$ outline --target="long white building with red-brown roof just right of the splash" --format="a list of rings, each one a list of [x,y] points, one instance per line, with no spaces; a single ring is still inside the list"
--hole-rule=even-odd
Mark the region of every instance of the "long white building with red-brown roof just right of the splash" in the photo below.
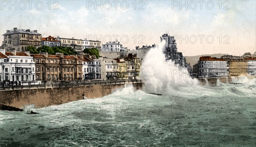
[[[227,61],[210,56],[200,57],[198,63],[193,66],[193,73],[198,78],[227,77]]]

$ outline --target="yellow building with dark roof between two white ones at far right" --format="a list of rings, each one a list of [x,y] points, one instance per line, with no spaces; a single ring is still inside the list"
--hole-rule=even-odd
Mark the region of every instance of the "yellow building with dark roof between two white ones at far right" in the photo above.
[[[230,76],[247,75],[248,62],[241,59],[228,60]]]

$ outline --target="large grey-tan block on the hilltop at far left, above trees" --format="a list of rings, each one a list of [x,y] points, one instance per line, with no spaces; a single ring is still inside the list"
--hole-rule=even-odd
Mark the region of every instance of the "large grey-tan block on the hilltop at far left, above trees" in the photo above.
[[[37,30],[13,28],[3,34],[2,49],[25,51],[28,46],[41,46],[41,34]]]

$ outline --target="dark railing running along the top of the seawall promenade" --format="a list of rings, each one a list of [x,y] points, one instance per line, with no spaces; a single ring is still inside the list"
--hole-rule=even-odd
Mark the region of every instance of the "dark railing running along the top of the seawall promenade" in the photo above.
[[[115,81],[76,81],[76,82],[47,82],[45,84],[28,84],[28,85],[0,85],[1,90],[17,90],[17,89],[39,89],[39,88],[58,88],[58,87],[77,87],[91,85],[111,85],[111,84],[134,84],[143,83],[142,80],[115,80]]]

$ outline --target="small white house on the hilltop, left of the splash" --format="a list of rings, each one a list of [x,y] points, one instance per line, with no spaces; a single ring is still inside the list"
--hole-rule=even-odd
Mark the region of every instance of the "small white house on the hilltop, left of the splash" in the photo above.
[[[124,52],[125,49],[120,42],[108,42],[102,45],[102,52]],[[126,51],[127,52],[127,51]]]

